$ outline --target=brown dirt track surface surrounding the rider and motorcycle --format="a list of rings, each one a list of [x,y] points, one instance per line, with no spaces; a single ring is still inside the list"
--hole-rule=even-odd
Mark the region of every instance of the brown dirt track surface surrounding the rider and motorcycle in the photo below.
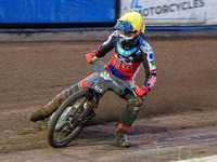
[[[125,102],[112,93],[102,99],[93,125],[63,149],[48,146],[47,123],[27,119],[30,111],[92,73],[84,55],[101,41],[1,42],[0,161],[162,162],[217,154],[216,41],[149,38],[157,82],[129,133],[129,149],[113,143]],[[136,82],[143,82],[143,69]]]

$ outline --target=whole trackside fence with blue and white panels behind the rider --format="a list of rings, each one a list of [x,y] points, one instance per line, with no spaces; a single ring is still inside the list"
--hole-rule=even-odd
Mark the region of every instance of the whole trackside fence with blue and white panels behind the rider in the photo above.
[[[217,0],[0,0],[0,30],[113,29],[129,11],[146,29],[217,29]]]

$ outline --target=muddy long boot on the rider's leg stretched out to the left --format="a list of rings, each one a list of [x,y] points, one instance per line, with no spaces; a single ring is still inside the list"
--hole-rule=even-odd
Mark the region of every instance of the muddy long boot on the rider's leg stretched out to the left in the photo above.
[[[68,96],[78,92],[79,90],[80,89],[78,84],[74,84],[69,89],[63,91],[58,96],[55,96],[53,100],[47,104],[44,107],[30,112],[28,119],[33,122],[43,121],[49,116],[51,116]]]

